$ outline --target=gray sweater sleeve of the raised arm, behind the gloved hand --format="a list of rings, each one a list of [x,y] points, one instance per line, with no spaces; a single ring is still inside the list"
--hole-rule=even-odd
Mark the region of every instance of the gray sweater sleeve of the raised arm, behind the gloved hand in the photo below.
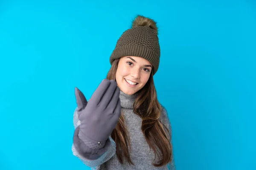
[[[77,129],[76,127],[78,127],[80,124],[81,122],[78,119],[77,108],[76,108],[73,114],[73,125],[75,129]],[[75,130],[75,133],[76,133],[76,130]],[[78,157],[86,166],[97,167],[103,164],[104,162],[108,161],[109,159],[111,159],[111,157],[116,153],[116,143],[113,141],[111,137],[108,138],[108,142],[109,142],[108,146],[107,145],[105,146],[105,147],[108,147],[105,153],[103,153],[101,156],[97,157],[96,159],[88,159],[88,157],[85,157],[84,155],[82,155],[81,152],[79,152],[79,149],[75,147],[76,144],[74,142],[72,144],[72,152],[73,152],[73,155]],[[87,147],[87,146],[84,144],[84,147]]]

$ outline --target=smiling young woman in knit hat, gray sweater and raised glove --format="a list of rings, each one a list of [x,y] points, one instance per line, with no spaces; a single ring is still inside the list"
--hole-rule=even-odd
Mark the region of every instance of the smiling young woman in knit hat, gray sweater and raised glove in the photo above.
[[[154,20],[138,15],[116,43],[111,68],[86,100],[75,88],[73,154],[95,170],[175,170],[171,125],[157,100]]]

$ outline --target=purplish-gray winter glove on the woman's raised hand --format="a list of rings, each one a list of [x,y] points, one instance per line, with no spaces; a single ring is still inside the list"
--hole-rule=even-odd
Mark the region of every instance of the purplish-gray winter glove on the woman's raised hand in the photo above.
[[[96,159],[108,149],[108,137],[121,113],[119,94],[116,82],[108,79],[102,80],[88,102],[82,92],[75,88],[81,124],[75,130],[73,142],[83,156]]]

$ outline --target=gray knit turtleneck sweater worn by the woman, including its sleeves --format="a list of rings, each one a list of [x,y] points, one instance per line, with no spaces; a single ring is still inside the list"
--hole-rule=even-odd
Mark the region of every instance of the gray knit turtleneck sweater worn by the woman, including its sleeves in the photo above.
[[[89,160],[79,154],[77,148],[72,145],[73,155],[77,156],[85,165],[91,167],[91,170],[175,170],[174,157],[172,162],[169,162],[166,166],[154,167],[154,152],[150,150],[148,143],[141,131],[141,118],[133,112],[133,103],[136,94],[127,95],[120,91],[120,100],[122,112],[124,113],[125,123],[127,125],[129,136],[131,137],[131,151],[130,156],[134,165],[132,164],[120,164],[116,156],[116,144],[109,137],[111,144],[107,151],[98,159]],[[167,116],[166,109],[162,106],[162,114],[160,120],[166,127],[171,129],[171,125]],[[80,125],[77,112],[75,110],[73,116],[73,124],[76,128]]]

